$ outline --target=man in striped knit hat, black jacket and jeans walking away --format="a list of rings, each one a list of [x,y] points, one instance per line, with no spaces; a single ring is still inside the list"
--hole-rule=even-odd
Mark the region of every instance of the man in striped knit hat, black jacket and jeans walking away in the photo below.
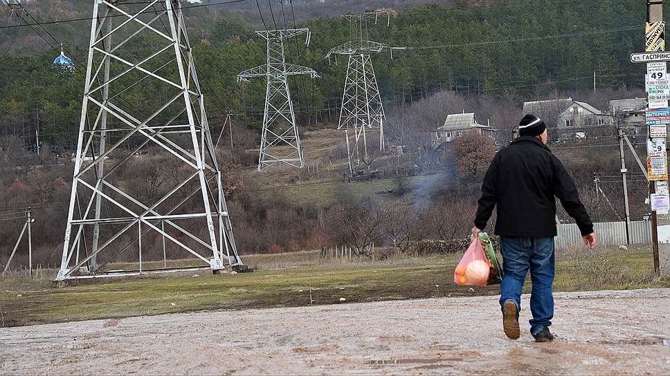
[[[485,229],[498,206],[495,232],[501,238],[503,271],[500,306],[503,329],[510,339],[520,336],[521,289],[530,269],[532,292],[530,333],[535,341],[552,341],[554,317],[554,236],[556,201],[577,221],[585,245],[595,247],[595,234],[577,187],[565,167],[546,146],[547,126],[534,115],[519,122],[520,137],[498,151],[482,183],[482,197],[472,232]]]

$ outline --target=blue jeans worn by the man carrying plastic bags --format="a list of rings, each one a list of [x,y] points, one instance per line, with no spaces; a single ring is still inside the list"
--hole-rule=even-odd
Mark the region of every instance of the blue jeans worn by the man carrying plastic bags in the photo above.
[[[530,269],[533,319],[529,323],[530,333],[536,335],[554,317],[554,238],[502,238],[501,243],[505,277],[500,284],[500,306],[509,299],[521,309],[523,281]]]

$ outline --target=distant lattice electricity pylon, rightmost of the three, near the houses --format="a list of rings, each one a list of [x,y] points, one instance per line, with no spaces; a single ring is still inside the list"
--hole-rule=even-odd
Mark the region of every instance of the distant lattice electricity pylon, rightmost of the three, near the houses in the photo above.
[[[350,41],[332,48],[326,55],[330,60],[331,55],[348,55],[347,77],[345,79],[342,94],[342,107],[337,129],[345,129],[347,139],[347,151],[349,153],[349,168],[353,172],[354,167],[362,160],[368,159],[368,140],[365,129],[379,129],[379,150],[383,151],[384,145],[384,121],[386,114],[379,95],[377,77],[374,76],[372,68],[371,53],[380,53],[390,48],[388,45],[376,41],[370,41],[368,35],[368,21],[377,23],[379,17],[386,17],[386,25],[390,23],[390,12],[376,10],[358,14],[344,15],[350,23]],[[354,131],[354,145],[350,147],[349,130]],[[363,144],[363,155],[361,155],[360,144]]]

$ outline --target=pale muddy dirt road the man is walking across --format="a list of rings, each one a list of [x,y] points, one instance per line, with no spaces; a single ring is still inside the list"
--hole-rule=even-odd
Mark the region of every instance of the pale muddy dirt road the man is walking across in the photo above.
[[[0,329],[0,374],[670,374],[670,289],[556,294],[552,344],[496,297],[165,314]]]

